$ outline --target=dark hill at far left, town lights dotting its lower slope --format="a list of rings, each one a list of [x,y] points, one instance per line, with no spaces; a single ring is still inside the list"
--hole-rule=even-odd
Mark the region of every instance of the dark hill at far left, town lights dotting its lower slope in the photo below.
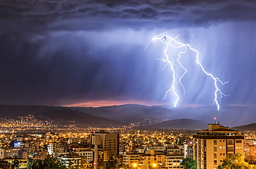
[[[89,115],[84,112],[72,110],[61,106],[19,106],[0,105],[0,117],[19,119],[21,116],[34,115],[36,119],[48,117],[62,124],[76,123],[78,126],[92,127],[116,127],[124,126],[124,123],[104,117]],[[43,118],[44,119],[44,118]],[[72,122],[71,122],[72,121]],[[75,121],[75,122],[73,122]]]

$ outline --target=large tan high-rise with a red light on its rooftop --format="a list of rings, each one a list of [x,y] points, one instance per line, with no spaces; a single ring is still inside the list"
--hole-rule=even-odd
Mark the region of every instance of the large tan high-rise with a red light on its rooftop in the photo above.
[[[240,131],[230,130],[219,123],[208,126],[209,129],[193,135],[194,159],[198,168],[215,169],[226,155],[244,151],[244,137]]]

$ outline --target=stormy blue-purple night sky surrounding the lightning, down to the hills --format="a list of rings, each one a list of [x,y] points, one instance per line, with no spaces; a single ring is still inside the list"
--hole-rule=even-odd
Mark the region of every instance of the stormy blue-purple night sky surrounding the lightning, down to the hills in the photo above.
[[[2,0],[0,104],[173,105],[165,32],[228,84],[221,105],[256,106],[255,0]],[[170,51],[172,53],[172,51]],[[178,106],[210,106],[212,79],[184,55]],[[165,67],[165,68],[164,68]],[[163,69],[164,68],[164,69]],[[177,70],[179,72],[179,70]]]

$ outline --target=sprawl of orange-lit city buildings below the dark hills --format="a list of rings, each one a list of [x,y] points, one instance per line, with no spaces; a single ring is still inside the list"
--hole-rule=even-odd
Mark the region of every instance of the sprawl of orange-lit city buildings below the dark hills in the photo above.
[[[51,133],[0,135],[0,159],[60,159],[66,168],[104,168],[115,161],[118,168],[183,168],[183,158],[192,157],[198,168],[217,168],[227,155],[244,152],[255,163],[255,138],[230,130],[219,123],[194,135],[183,131],[126,130],[127,132]],[[247,139],[246,139],[247,138]]]

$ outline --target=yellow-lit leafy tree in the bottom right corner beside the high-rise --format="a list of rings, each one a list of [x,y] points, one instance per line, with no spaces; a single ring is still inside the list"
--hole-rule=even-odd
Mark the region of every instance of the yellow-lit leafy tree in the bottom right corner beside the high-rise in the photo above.
[[[255,165],[250,165],[246,161],[244,161],[244,153],[235,153],[235,155],[231,155],[223,159],[223,163],[218,166],[219,169],[253,169],[256,168]]]

